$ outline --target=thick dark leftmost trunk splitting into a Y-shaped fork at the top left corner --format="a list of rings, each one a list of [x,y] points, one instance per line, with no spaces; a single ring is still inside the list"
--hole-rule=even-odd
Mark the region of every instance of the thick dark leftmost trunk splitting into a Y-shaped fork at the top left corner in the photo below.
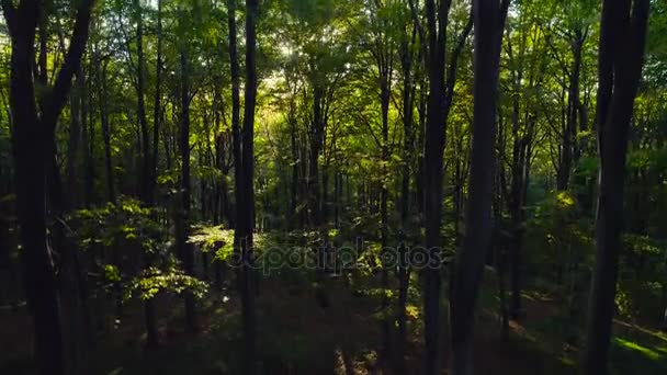
[[[93,1],[78,3],[63,66],[53,88],[38,95],[38,111],[33,75],[35,34],[39,18],[48,15],[41,5],[36,0],[2,1],[12,46],[9,93],[23,276],[33,316],[38,371],[59,375],[67,371],[56,274],[46,231],[45,180],[47,159],[52,157],[47,154],[53,150],[56,124],[81,64]]]

